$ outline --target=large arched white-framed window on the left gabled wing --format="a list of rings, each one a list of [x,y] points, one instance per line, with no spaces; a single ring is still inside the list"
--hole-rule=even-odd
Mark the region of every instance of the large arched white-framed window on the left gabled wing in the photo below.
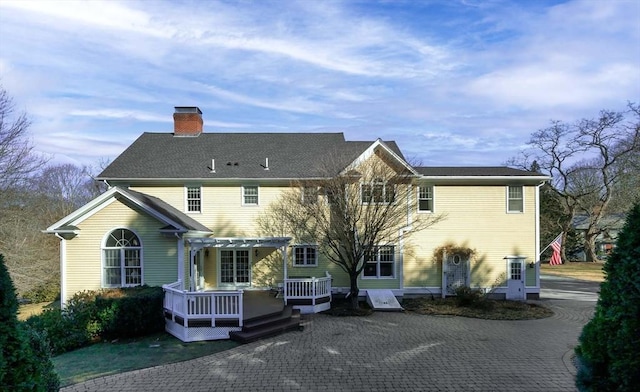
[[[142,245],[134,232],[127,229],[112,231],[102,252],[103,287],[142,285]]]

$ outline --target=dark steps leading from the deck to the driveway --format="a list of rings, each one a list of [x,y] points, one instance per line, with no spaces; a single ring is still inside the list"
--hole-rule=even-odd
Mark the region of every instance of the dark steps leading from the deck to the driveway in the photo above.
[[[249,343],[302,328],[300,310],[285,306],[282,311],[245,320],[242,330],[229,332],[229,338],[239,343]]]

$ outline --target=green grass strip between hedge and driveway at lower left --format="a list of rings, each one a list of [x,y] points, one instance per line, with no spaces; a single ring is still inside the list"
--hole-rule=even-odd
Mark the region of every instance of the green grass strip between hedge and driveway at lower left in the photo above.
[[[53,357],[64,387],[110,374],[185,361],[229,350],[230,340],[184,343],[168,333],[96,343]]]

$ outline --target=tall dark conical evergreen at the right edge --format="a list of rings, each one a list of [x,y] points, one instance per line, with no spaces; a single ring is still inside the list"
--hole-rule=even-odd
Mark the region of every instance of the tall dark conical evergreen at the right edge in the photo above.
[[[604,265],[595,315],[576,347],[582,391],[634,391],[640,385],[640,203],[629,212]]]

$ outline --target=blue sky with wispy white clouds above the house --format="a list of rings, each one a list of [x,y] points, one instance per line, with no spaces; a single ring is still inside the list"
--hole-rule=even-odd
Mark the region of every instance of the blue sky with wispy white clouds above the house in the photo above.
[[[640,101],[640,2],[0,0],[0,84],[36,150],[97,166],[205,132],[344,132],[496,166],[550,120]]]

